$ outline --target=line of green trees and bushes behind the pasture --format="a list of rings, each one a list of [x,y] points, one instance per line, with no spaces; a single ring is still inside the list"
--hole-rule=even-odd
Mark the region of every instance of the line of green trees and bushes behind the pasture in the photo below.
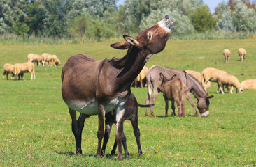
[[[177,38],[204,32],[256,30],[256,1],[222,1],[211,14],[202,0],[1,0],[0,34],[101,40],[137,34],[164,15]]]

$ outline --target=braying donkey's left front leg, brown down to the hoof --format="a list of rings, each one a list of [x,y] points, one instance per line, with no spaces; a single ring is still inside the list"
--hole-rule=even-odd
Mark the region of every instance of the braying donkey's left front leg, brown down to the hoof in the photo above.
[[[104,119],[105,119],[105,109],[104,105],[98,104],[98,118],[99,118],[99,126],[98,126],[98,148],[97,148],[97,157],[101,157],[101,141],[104,136]]]

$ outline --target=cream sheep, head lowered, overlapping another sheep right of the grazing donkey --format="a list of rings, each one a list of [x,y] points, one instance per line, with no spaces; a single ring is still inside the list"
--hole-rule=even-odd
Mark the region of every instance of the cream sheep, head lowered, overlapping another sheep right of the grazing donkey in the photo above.
[[[222,85],[226,86],[234,86],[236,87],[236,92],[243,93],[243,87],[241,86],[239,79],[234,77],[232,74],[219,74],[218,78],[218,89],[224,94],[224,91],[222,90]],[[232,93],[232,92],[231,92]]]

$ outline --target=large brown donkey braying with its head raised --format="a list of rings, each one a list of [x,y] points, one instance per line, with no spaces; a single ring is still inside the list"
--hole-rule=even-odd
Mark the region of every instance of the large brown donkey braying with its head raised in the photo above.
[[[162,51],[175,23],[168,15],[136,39],[124,35],[126,42],[112,44],[115,49],[128,49],[122,58],[96,61],[77,54],[71,56],[62,68],[62,97],[72,119],[72,132],[76,138],[76,154],[82,154],[81,135],[85,118],[98,115],[97,157],[101,157],[105,113],[116,111],[116,140],[118,159],[122,159],[122,125],[125,105],[131,93],[132,81],[152,56]],[[80,112],[76,120],[76,111]]]

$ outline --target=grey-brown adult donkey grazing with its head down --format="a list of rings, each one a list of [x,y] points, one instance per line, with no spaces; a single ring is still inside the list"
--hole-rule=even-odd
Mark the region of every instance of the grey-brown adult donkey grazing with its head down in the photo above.
[[[204,90],[204,88],[199,84],[199,82],[191,77],[187,72],[183,70],[173,70],[171,68],[167,67],[159,67],[155,66],[153,67],[147,75],[147,82],[148,82],[148,96],[146,98],[146,104],[154,103],[155,99],[159,95],[160,92],[162,92],[160,86],[162,82],[159,80],[159,74],[162,72],[167,79],[171,78],[174,74],[177,75],[177,78],[181,79],[185,86],[185,97],[190,102],[191,106],[193,107],[196,116],[200,117],[197,109],[201,113],[202,117],[207,117],[209,114],[209,99],[213,97],[213,95],[208,95],[208,93]],[[152,97],[150,98],[152,94],[152,90],[154,90]],[[197,108],[194,106],[194,102],[190,96],[190,92],[194,95],[194,97],[197,98]],[[150,107],[151,115],[155,116],[153,107]],[[148,108],[145,111],[145,116],[148,116]]]

